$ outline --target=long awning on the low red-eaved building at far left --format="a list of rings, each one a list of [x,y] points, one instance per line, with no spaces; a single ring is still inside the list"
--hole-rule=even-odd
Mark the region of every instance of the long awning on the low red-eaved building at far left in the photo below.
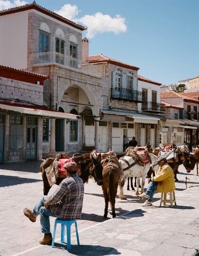
[[[10,110],[20,114],[27,114],[27,115],[36,115],[42,117],[49,117],[49,118],[58,118],[58,119],[77,119],[77,115],[63,113],[59,111],[53,111],[45,109],[44,107],[37,107],[37,106],[24,106],[15,103],[15,102],[6,102],[6,104],[0,103],[1,110]]]

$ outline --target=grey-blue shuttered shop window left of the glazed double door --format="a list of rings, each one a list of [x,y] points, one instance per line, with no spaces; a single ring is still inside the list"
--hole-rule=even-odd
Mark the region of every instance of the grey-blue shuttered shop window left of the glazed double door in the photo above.
[[[23,149],[23,117],[10,116],[9,151],[21,151]]]

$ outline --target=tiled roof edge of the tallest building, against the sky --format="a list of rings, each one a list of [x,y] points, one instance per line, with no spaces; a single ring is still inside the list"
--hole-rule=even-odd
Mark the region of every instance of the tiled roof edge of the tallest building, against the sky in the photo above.
[[[76,27],[76,28],[80,29],[81,31],[87,29],[86,27],[83,27],[83,26],[73,22],[72,20],[64,18],[61,15],[36,4],[36,1],[34,1],[31,4],[26,4],[26,5],[10,8],[10,9],[1,10],[0,11],[0,16],[10,14],[10,13],[19,12],[19,11],[25,11],[25,10],[29,10],[29,9],[36,9],[36,10],[42,12],[42,13],[45,13],[48,16],[51,16],[55,19],[58,19],[58,20],[60,20],[64,23],[68,24],[68,25],[71,25],[72,27]]]

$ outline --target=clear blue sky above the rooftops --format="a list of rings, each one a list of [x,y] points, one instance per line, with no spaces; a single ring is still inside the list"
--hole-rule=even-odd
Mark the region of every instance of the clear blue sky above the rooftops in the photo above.
[[[36,0],[36,3],[50,10],[60,10],[64,4],[76,5],[75,18],[79,20],[97,12],[110,18],[120,15],[126,29],[117,28],[117,23],[110,25],[113,27],[110,31],[115,29],[117,35],[99,33],[101,27],[106,27],[104,24],[93,25],[99,31],[90,38],[90,55],[103,54],[133,64],[140,67],[140,75],[163,84],[199,75],[199,0]]]

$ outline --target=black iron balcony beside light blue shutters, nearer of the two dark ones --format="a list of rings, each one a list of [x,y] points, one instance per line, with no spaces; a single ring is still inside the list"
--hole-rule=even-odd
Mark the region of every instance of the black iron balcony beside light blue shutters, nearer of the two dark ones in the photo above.
[[[143,102],[144,92],[126,88],[111,88],[111,99],[119,101]]]

